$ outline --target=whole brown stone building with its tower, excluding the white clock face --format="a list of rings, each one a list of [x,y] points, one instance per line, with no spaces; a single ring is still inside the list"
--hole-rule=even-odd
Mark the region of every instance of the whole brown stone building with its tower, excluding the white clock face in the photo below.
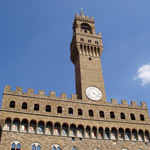
[[[146,103],[106,101],[100,56],[101,34],[93,18],[76,15],[71,61],[75,65],[76,95],[34,94],[5,86],[0,111],[1,150],[149,150],[150,119]],[[86,88],[94,86],[102,98],[94,101]],[[14,146],[14,147],[13,147]],[[17,147],[18,146],[18,147]],[[32,148],[31,148],[32,147]]]

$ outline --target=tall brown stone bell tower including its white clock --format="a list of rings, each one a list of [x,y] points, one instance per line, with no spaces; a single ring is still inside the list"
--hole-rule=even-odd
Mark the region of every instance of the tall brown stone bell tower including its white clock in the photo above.
[[[106,102],[100,56],[103,51],[101,34],[95,34],[94,18],[76,14],[73,23],[71,61],[75,65],[76,94],[84,101]]]

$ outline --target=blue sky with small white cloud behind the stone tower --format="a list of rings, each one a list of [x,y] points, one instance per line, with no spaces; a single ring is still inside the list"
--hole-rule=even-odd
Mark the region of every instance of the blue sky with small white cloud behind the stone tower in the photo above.
[[[0,1],[0,103],[5,85],[75,94],[70,42],[81,8],[102,33],[107,101],[150,108],[149,0]]]

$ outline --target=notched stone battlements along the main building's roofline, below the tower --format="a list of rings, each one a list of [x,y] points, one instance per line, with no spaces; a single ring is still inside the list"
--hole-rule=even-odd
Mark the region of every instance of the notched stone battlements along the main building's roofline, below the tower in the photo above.
[[[34,94],[34,89],[28,88],[27,93],[22,92],[21,87],[16,87],[16,91],[11,91],[11,86],[6,85],[4,89],[5,94],[12,94],[12,95],[20,95],[20,96],[29,96],[29,97],[36,97],[36,98],[45,98],[45,99],[59,99],[59,100],[70,100],[70,101],[77,101],[82,102],[81,99],[77,99],[76,94],[72,94],[71,98],[67,98],[66,93],[60,93],[60,97],[56,97],[56,92],[50,91],[49,95],[45,95],[44,90],[39,90],[38,94]],[[84,101],[83,101],[84,102]],[[97,104],[97,102],[89,101],[89,103]],[[99,103],[101,105],[110,105],[110,106],[118,106],[118,107],[129,107],[129,108],[139,108],[139,109],[147,109],[147,105],[145,102],[140,102],[140,106],[137,105],[136,101],[131,101],[131,105],[127,103],[127,100],[121,100],[121,104],[117,102],[117,99],[111,99],[111,103]]]

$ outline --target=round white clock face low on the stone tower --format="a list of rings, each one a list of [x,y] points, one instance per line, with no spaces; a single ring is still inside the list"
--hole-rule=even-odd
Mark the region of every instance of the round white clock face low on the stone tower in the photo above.
[[[102,92],[97,87],[90,86],[86,89],[86,96],[93,101],[98,101],[102,98]]]

